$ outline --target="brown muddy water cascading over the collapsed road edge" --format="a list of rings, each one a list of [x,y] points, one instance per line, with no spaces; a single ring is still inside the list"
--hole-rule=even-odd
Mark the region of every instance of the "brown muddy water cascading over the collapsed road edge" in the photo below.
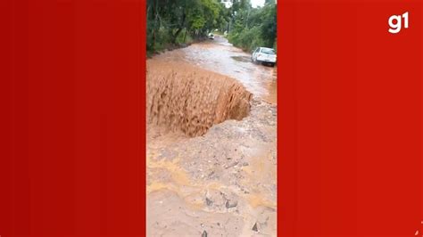
[[[203,135],[250,112],[252,94],[233,78],[177,62],[147,63],[147,123]]]

